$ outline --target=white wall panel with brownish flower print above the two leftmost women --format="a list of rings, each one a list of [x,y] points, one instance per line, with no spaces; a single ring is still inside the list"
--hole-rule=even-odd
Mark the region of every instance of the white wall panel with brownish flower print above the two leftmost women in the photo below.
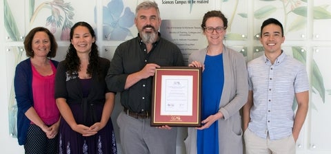
[[[97,13],[96,1],[27,1],[30,17],[26,19],[27,30],[37,26],[48,28],[57,41],[70,39],[70,28],[78,21],[86,21],[94,28]],[[23,14],[23,12],[21,12]]]

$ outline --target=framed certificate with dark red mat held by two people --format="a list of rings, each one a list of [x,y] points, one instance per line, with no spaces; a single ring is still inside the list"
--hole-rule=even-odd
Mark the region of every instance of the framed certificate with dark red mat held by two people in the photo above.
[[[201,70],[201,67],[156,69],[151,126],[201,126]]]

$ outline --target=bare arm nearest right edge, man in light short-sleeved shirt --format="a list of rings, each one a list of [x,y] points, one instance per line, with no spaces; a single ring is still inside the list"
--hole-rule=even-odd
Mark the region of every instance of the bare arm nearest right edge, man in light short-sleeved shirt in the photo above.
[[[298,109],[297,109],[297,113],[295,114],[295,118],[294,118],[292,134],[293,134],[294,140],[297,142],[299,133],[301,131],[303,123],[305,122],[305,117],[308,113],[309,92],[303,91],[301,93],[297,93],[297,94],[295,94],[295,97],[297,98]]]

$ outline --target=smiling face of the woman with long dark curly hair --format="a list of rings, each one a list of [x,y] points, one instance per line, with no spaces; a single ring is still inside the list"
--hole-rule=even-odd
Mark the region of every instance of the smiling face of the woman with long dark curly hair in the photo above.
[[[92,37],[90,31],[85,26],[79,25],[77,28],[74,28],[71,43],[77,52],[90,52],[94,41],[94,37]]]

